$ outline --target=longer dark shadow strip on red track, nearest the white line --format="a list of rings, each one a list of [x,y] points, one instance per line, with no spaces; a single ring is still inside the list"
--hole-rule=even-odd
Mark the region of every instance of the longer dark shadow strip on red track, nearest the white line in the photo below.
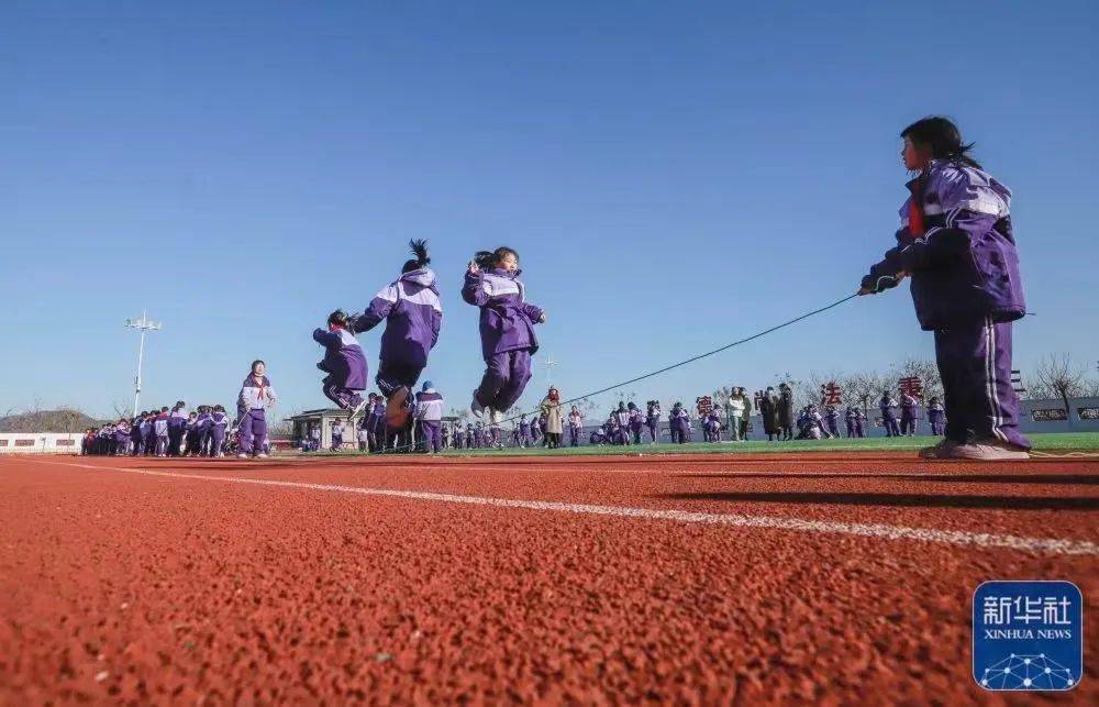
[[[824,494],[800,491],[664,494],[662,500],[720,500],[759,504],[992,508],[999,510],[1097,510],[1099,498],[948,496],[933,494]]]

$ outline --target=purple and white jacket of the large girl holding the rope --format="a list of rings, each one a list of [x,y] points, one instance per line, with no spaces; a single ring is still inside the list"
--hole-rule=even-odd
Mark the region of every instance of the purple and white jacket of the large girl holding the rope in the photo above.
[[[1011,230],[1011,190],[981,169],[935,159],[908,183],[900,209],[897,246],[863,278],[863,287],[896,285],[900,272],[912,276],[912,301],[924,330],[990,317],[1008,322],[1023,317],[1022,277]],[[919,199],[925,232],[909,230],[912,199]]]

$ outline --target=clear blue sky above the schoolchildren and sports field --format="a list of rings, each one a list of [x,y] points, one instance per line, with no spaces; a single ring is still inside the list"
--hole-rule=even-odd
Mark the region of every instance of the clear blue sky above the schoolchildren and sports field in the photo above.
[[[410,237],[449,404],[482,369],[465,263],[501,244],[550,317],[524,400],[547,353],[565,396],[598,388],[853,291],[930,113],[1014,190],[1017,364],[1099,358],[1094,0],[9,0],[0,33],[0,412],[132,400],[143,307],[144,404],[231,404],[263,357],[284,410],[320,407],[311,330]],[[907,289],[633,391],[930,356]]]

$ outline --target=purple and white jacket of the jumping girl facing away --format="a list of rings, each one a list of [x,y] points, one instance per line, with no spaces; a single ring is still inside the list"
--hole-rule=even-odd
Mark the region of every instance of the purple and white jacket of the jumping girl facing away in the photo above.
[[[375,295],[366,311],[348,322],[348,327],[352,333],[370,331],[381,320],[386,320],[381,361],[428,365],[428,353],[435,347],[443,325],[443,303],[435,286],[435,272],[421,267],[404,273]]]

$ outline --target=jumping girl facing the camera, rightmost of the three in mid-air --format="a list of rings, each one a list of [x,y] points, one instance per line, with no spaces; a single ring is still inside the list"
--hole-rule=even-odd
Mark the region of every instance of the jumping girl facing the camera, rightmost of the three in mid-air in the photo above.
[[[539,350],[534,324],[546,320],[526,302],[519,254],[509,247],[480,252],[469,263],[462,298],[480,308],[481,355],[486,369],[469,409],[502,419],[531,379],[531,356]]]

